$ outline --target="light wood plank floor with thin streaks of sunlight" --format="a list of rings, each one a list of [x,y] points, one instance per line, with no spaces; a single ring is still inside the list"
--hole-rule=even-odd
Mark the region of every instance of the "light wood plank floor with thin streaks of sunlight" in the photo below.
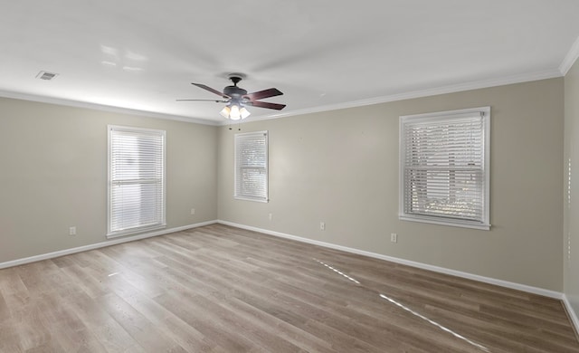
[[[579,352],[560,301],[220,224],[0,270],[1,352]]]

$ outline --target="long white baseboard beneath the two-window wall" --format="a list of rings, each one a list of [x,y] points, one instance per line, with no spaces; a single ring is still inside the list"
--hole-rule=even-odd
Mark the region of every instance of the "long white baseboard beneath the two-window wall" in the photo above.
[[[319,245],[319,246],[324,246],[330,249],[336,249],[336,250],[341,250],[343,252],[346,253],[356,253],[359,255],[365,255],[368,257],[373,257],[375,259],[380,259],[380,260],[385,260],[385,261],[389,261],[389,262],[396,262],[396,263],[401,263],[404,265],[408,265],[408,266],[412,266],[412,267],[416,267],[419,269],[423,269],[423,270],[429,270],[432,272],[440,272],[440,273],[445,273],[445,274],[450,274],[452,276],[457,276],[457,277],[461,277],[461,278],[466,278],[469,280],[474,280],[474,281],[481,281],[481,282],[485,282],[485,283],[489,283],[489,284],[495,284],[498,285],[500,287],[505,287],[505,288],[510,288],[513,290],[517,290],[517,291],[527,291],[529,293],[533,293],[533,294],[538,294],[538,295],[542,295],[545,297],[549,297],[549,298],[555,298],[558,300],[563,300],[564,295],[561,292],[558,291],[549,291],[543,288],[538,288],[538,287],[533,287],[533,286],[528,286],[526,284],[520,284],[520,283],[515,283],[512,281],[503,281],[503,280],[498,280],[495,278],[490,278],[490,277],[485,277],[485,276],[479,276],[478,274],[472,274],[469,272],[460,272],[460,271],[456,271],[456,270],[451,270],[451,269],[447,269],[444,267],[439,267],[439,266],[433,266],[430,264],[426,264],[426,263],[422,263],[422,262],[414,262],[414,261],[410,261],[410,260],[404,260],[404,259],[399,259],[396,257],[392,257],[392,256],[387,256],[387,255],[383,255],[380,253],[370,253],[370,252],[366,252],[364,250],[358,250],[358,249],[354,249],[354,248],[349,248],[346,246],[342,246],[342,245],[337,245],[334,243],[325,243],[325,242],[319,242],[317,240],[312,240],[312,239],[308,239],[308,238],[303,238],[297,235],[291,235],[291,234],[284,234],[284,233],[280,233],[280,232],[274,232],[274,231],[270,231],[267,229],[261,229],[261,228],[257,228],[257,227],[253,227],[250,225],[244,225],[244,224],[235,224],[233,222],[228,222],[228,221],[222,221],[222,220],[218,220],[217,223],[219,224],[225,224],[225,225],[231,225],[233,227],[237,227],[237,228],[242,228],[242,229],[247,229],[250,231],[254,231],[254,232],[260,232],[263,234],[270,234],[270,235],[274,235],[274,236],[279,236],[281,238],[286,238],[286,239],[292,239],[292,240],[296,240],[298,242],[302,242],[302,243],[311,243],[314,245]],[[579,328],[579,326],[576,326],[577,328]]]

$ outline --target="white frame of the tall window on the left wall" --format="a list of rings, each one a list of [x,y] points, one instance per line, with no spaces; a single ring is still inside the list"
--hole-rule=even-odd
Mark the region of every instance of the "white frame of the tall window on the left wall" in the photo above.
[[[143,233],[143,232],[147,232],[147,231],[152,231],[152,230],[157,230],[157,229],[162,229],[166,227],[166,131],[164,130],[157,130],[157,129],[142,129],[142,128],[134,128],[134,127],[124,127],[124,126],[117,126],[117,125],[108,125],[107,127],[108,129],[108,187],[107,187],[107,238],[115,238],[118,236],[123,236],[123,235],[128,235],[128,234],[138,234],[138,233]],[[160,171],[160,179],[159,177],[152,177],[152,178],[143,178],[143,177],[138,177],[135,179],[131,179],[131,180],[113,180],[113,166],[112,164],[114,163],[114,157],[113,157],[113,138],[114,138],[114,134],[119,133],[119,134],[132,134],[135,136],[148,136],[148,137],[155,137],[155,138],[161,138],[161,156],[162,156],[162,163],[161,163],[161,168],[162,170]],[[113,218],[115,217],[115,215],[113,215],[114,213],[114,208],[113,208],[113,203],[114,203],[114,188],[116,186],[121,186],[121,185],[145,185],[146,183],[154,183],[161,186],[161,194],[162,195],[158,195],[158,193],[156,194],[156,198],[160,198],[161,199],[161,205],[157,205],[157,208],[155,209],[155,213],[157,214],[155,221],[153,223],[143,223],[143,224],[138,224],[138,225],[132,225],[132,226],[126,226],[126,227],[115,227],[113,229],[114,226],[114,222],[113,222]],[[142,205],[141,205],[142,206]],[[160,207],[160,209],[158,208]],[[143,209],[139,209],[138,212],[144,212]]]

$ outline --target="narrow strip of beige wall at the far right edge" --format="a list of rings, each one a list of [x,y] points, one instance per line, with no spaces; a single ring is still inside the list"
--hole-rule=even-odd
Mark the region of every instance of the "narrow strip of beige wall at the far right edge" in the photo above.
[[[571,170],[569,170],[569,162]],[[565,75],[565,296],[579,314],[579,61]],[[570,186],[569,186],[570,184]],[[568,194],[568,192],[570,192]]]

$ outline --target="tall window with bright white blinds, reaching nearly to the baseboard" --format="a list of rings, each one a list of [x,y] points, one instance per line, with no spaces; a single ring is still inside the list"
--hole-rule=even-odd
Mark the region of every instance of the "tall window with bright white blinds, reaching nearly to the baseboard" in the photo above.
[[[107,236],[165,225],[165,131],[109,126]]]

